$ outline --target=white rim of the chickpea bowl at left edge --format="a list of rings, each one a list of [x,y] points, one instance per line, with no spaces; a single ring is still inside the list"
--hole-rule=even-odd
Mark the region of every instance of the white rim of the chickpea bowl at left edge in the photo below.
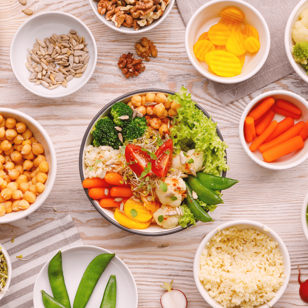
[[[49,137],[49,135],[47,134],[47,132],[45,131],[43,126],[41,124],[39,124],[39,122],[34,120],[32,117],[30,117],[30,115],[27,115],[26,113],[23,113],[22,111],[19,111],[19,110],[16,110],[16,109],[0,107],[0,114],[2,114],[2,112],[7,112],[7,113],[14,114],[14,115],[18,115],[18,116],[24,118],[25,120],[27,120],[28,122],[32,123],[39,130],[39,132],[43,135],[43,138],[45,139],[45,141],[48,145],[49,152],[50,152],[51,164],[52,164],[51,165],[52,167],[50,168],[50,170],[48,172],[49,182],[48,182],[48,185],[46,185],[46,187],[44,189],[44,192],[45,191],[47,192],[45,197],[41,198],[37,204],[35,204],[35,202],[36,202],[35,201],[28,209],[23,210],[22,212],[19,212],[20,217],[18,217],[17,219],[15,219],[16,217],[14,219],[9,218],[9,217],[7,217],[7,215],[0,217],[0,224],[5,224],[5,223],[12,222],[12,221],[17,221],[19,219],[22,219],[22,218],[28,216],[29,214],[35,212],[46,201],[47,197],[51,193],[51,190],[53,188],[53,185],[54,185],[55,179],[56,179],[56,175],[57,175],[57,156],[56,156],[55,148],[54,148],[54,145],[51,141],[51,138]],[[10,214],[10,213],[8,213],[8,214]],[[13,216],[11,216],[11,217],[13,217]]]

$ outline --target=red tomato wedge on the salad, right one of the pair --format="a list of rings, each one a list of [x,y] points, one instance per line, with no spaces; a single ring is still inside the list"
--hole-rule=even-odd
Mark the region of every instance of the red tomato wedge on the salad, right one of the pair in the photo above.
[[[156,176],[166,176],[172,164],[172,154],[173,142],[172,139],[169,139],[155,152],[157,159],[152,160],[152,171]]]

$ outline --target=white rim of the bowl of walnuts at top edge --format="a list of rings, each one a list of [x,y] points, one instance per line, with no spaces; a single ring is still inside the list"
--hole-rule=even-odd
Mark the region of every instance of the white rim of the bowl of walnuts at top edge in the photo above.
[[[140,27],[139,30],[135,30],[135,31],[130,31],[130,30],[126,30],[127,27],[123,26],[123,28],[121,28],[122,26],[120,26],[119,28],[116,27],[113,23],[109,23],[110,20],[106,20],[105,18],[101,19],[101,16],[97,10],[94,10],[92,7],[93,4],[93,0],[89,0],[90,2],[90,6],[92,8],[92,10],[94,11],[96,17],[103,22],[106,26],[108,26],[110,29],[115,30],[117,32],[120,33],[125,33],[125,34],[138,34],[138,33],[142,33],[142,32],[146,32],[148,30],[152,30],[154,29],[156,26],[158,26],[161,22],[164,21],[164,19],[168,16],[168,14],[170,13],[170,11],[172,10],[172,7],[174,5],[175,0],[170,0],[170,2],[167,4],[167,6],[170,5],[170,8],[168,7],[165,11],[164,14],[157,19],[157,21],[153,21],[152,24],[148,25],[148,26],[144,26],[144,27]],[[165,14],[166,13],[166,14]]]

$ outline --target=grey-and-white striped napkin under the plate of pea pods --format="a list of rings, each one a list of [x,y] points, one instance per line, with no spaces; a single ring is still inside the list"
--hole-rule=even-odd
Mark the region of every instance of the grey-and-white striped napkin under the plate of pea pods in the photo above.
[[[33,308],[34,282],[47,261],[60,249],[83,245],[70,215],[61,214],[55,221],[2,244],[12,262],[9,290],[0,300],[1,308]],[[32,257],[25,261],[23,258]]]

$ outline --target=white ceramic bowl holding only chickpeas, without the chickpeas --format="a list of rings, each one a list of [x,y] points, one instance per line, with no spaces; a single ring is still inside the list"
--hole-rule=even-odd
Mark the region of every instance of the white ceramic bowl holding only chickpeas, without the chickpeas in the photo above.
[[[12,213],[6,213],[3,216],[1,216],[0,224],[4,224],[28,216],[29,214],[36,211],[47,199],[55,183],[55,178],[57,173],[57,157],[54,145],[52,144],[50,137],[48,136],[45,129],[37,121],[35,121],[29,115],[26,115],[21,111],[9,108],[0,108],[0,114],[3,115],[5,119],[15,118],[17,122],[24,122],[27,125],[27,128],[29,128],[32,131],[35,139],[38,140],[39,143],[43,145],[44,147],[43,154],[46,157],[47,162],[49,164],[48,178],[47,181],[44,183],[45,190],[43,191],[43,193],[40,193],[39,196],[36,197],[35,202],[31,204],[28,209],[20,210],[18,212],[13,211]]]

